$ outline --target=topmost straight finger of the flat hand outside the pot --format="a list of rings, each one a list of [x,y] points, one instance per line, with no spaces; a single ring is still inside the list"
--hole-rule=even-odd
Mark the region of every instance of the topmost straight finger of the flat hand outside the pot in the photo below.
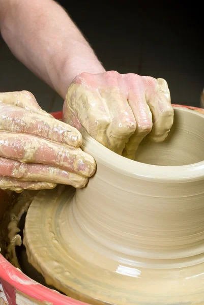
[[[82,136],[74,127],[53,117],[3,103],[0,103],[0,129],[31,134],[74,147],[82,143]]]

